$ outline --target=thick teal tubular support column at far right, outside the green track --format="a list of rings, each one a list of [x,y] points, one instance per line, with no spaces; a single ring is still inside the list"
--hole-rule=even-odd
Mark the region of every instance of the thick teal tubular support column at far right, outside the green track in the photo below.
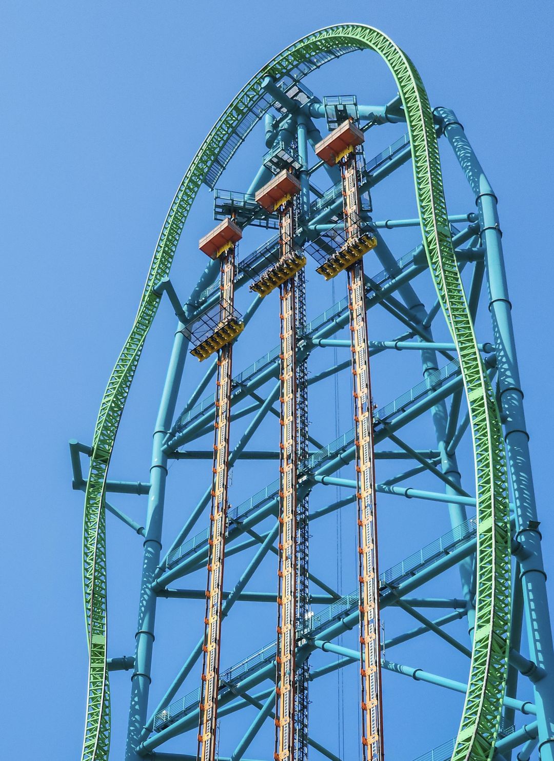
[[[533,684],[539,729],[541,761],[554,761],[554,645],[546,596],[546,574],[541,549],[540,522],[536,514],[529,435],[525,423],[523,391],[517,367],[511,302],[508,297],[497,198],[463,126],[453,111],[435,110],[442,129],[476,195],[481,242],[486,247],[485,264],[489,286],[489,310],[495,335],[499,399],[508,453],[508,468],[514,491],[516,539],[524,547],[519,572],[524,592],[524,611],[530,660],[546,675]]]

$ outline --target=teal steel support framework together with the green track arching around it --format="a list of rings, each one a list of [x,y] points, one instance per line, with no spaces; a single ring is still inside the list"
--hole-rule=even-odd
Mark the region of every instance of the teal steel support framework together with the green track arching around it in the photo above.
[[[186,688],[183,685],[189,673],[193,670],[196,673],[205,638],[202,636],[190,652],[157,707],[148,705],[148,693],[158,597],[193,598],[205,595],[204,590],[175,590],[169,585],[190,572],[205,568],[209,547],[212,546],[209,531],[200,531],[196,536],[192,533],[211,501],[212,487],[207,489],[204,498],[191,511],[186,525],[177,537],[173,537],[170,549],[164,556],[161,554],[161,524],[168,460],[212,459],[213,455],[210,451],[183,447],[190,447],[194,441],[213,430],[215,397],[212,395],[199,400],[214,377],[215,363],[190,396],[186,408],[177,417],[175,412],[189,346],[189,333],[186,330],[183,332],[183,328],[218,301],[218,285],[213,285],[218,276],[218,265],[212,263],[205,269],[184,304],[168,280],[170,266],[199,187],[202,183],[214,187],[250,129],[274,107],[281,116],[277,121],[269,119],[269,126],[273,125],[273,129],[269,130],[272,140],[281,140],[285,144],[286,135],[290,135],[291,131],[298,139],[301,182],[298,244],[309,247],[311,240],[334,224],[333,218],[336,221],[336,215],[340,215],[342,209],[339,177],[334,177],[335,184],[330,191],[310,201],[310,177],[317,166],[310,168],[307,164],[307,142],[314,145],[314,141],[320,138],[312,119],[325,116],[325,107],[315,97],[298,98],[298,88],[295,91],[294,85],[326,62],[359,49],[373,50],[387,62],[399,91],[399,96],[386,107],[359,107],[358,113],[366,122],[364,129],[399,121],[405,121],[407,125],[405,138],[393,143],[388,151],[365,165],[360,191],[365,193],[411,158],[419,209],[417,220],[380,222],[367,219],[369,228],[377,236],[375,253],[384,269],[373,277],[365,276],[365,308],[369,311],[379,305],[403,323],[403,333],[388,341],[377,340],[377,336],[370,331],[369,341],[365,341],[367,355],[371,357],[388,349],[416,350],[421,354],[424,371],[424,380],[414,383],[396,400],[374,410],[375,457],[415,460],[417,463],[415,468],[399,473],[396,478],[374,483],[374,492],[444,502],[449,506],[452,522],[451,530],[443,536],[380,574],[380,609],[391,605],[402,607],[419,622],[416,629],[406,631],[386,645],[392,648],[409,638],[432,632],[470,656],[466,684],[388,660],[383,660],[381,667],[384,671],[401,673],[465,694],[457,736],[435,749],[434,759],[509,759],[511,750],[519,746],[523,748],[518,758],[528,759],[538,745],[540,758],[554,761],[554,651],[523,393],[517,370],[511,304],[496,212],[497,199],[454,113],[446,108],[431,110],[422,81],[408,57],[383,33],[361,24],[328,27],[294,43],[264,66],[224,110],[196,153],[170,207],[148,272],[138,314],[103,396],[92,445],[71,444],[74,487],[85,491],[84,607],[90,667],[83,759],[107,759],[110,747],[108,671],[129,668],[132,669],[132,695],[127,759],[196,758],[196,755],[164,753],[158,749],[171,737],[199,726],[199,689],[183,694],[183,690],[188,689],[189,681]],[[473,190],[476,198],[474,215],[447,216],[438,155],[438,137],[441,136],[453,148]],[[283,150],[286,147],[284,145]],[[269,177],[269,171],[262,168],[250,186],[250,194]],[[249,197],[243,196],[240,204],[243,214],[241,226],[246,227],[264,218],[268,222],[267,215],[264,216]],[[451,224],[462,221],[467,223],[463,230],[453,231]],[[395,260],[380,235],[380,229],[410,224],[420,226],[422,244],[400,260]],[[250,282],[256,262],[275,261],[278,250],[278,241],[270,240],[269,244],[247,257],[244,266],[239,262],[236,288]],[[467,294],[460,278],[460,269],[466,265],[473,266],[473,279]],[[418,275],[431,276],[435,284],[438,298],[428,309],[422,306],[411,285]],[[477,342],[473,330],[484,278],[492,318],[492,340],[486,344]],[[170,298],[180,323],[154,428],[150,481],[111,481],[107,475],[117,428],[145,337],[164,292]],[[240,340],[247,340],[247,323],[254,316],[258,304],[256,297],[245,314],[246,328]],[[296,348],[299,364],[320,347],[350,345],[350,342],[332,337],[341,327],[349,324],[351,313],[348,307],[348,299],[343,298],[306,324]],[[433,339],[432,322],[439,310],[447,321],[450,343],[435,342]],[[350,360],[345,359],[310,377],[307,384],[316,384],[323,377],[329,377],[349,365]],[[280,371],[279,349],[272,349],[250,368],[234,376],[230,391],[232,419],[233,425],[243,426],[240,428],[243,432],[228,454],[229,467],[242,457],[279,459],[276,447],[275,451],[248,451],[246,447],[264,417],[275,412],[272,406],[279,399]],[[494,377],[495,391],[492,387]],[[256,389],[272,379],[273,390],[264,392],[265,396],[260,397]],[[468,411],[460,421],[463,395]],[[431,449],[428,441],[416,449],[403,441],[401,431],[407,423],[425,412],[430,412],[433,417],[436,442]],[[238,423],[242,418],[246,419],[246,426]],[[464,434],[471,435],[473,441],[476,496],[469,495],[462,488],[458,473],[456,450]],[[310,490],[319,489],[320,485],[353,489],[352,498],[310,511],[308,519],[311,526],[323,514],[352,503],[355,493],[359,493],[354,472],[352,479],[333,475],[345,464],[355,462],[358,438],[351,430],[325,447],[320,447],[311,438],[308,441],[314,448],[307,453],[300,466],[302,478],[298,481],[298,503],[305,500]],[[387,448],[380,448],[379,445],[384,443]],[[90,457],[86,481],[81,473],[80,454]],[[442,491],[423,491],[409,484],[406,486],[406,479],[420,472],[432,473],[441,481]],[[145,527],[111,505],[107,500],[108,492],[148,494]],[[256,526],[272,515],[277,516],[278,507],[279,482],[276,482],[228,511],[226,556],[238,555],[252,547],[256,551],[233,589],[223,592],[223,600],[218,602],[218,620],[224,619],[237,600],[260,602],[275,599],[273,594],[249,592],[247,585],[263,558],[269,552],[277,552],[275,543],[279,524],[262,534],[256,532]],[[474,518],[467,519],[466,508],[475,510]],[[134,657],[107,657],[106,511],[115,514],[144,539]],[[460,569],[462,582],[460,599],[414,600],[406,597],[421,584],[455,565]],[[337,667],[359,662],[359,651],[336,645],[334,640],[355,626],[360,616],[360,603],[358,591],[337,599],[333,589],[324,581],[309,574],[308,578],[311,602],[317,610],[312,616],[309,632],[304,630],[297,640],[295,661],[304,663],[316,650],[342,656],[341,661],[312,669],[310,681],[314,682]],[[450,607],[452,612],[431,620],[420,612],[425,607]],[[470,623],[471,642],[466,644],[458,642],[444,630],[449,622],[460,615],[467,616]],[[522,626],[527,632],[527,657],[519,652]],[[230,757],[235,761],[244,758],[257,731],[266,719],[273,716],[275,686],[270,684],[257,693],[253,690],[266,680],[275,680],[275,642],[240,664],[231,667],[223,664],[223,667],[224,670],[218,673],[218,718],[223,721],[225,716],[246,706],[255,705],[259,709],[250,727],[245,727],[244,737],[231,756],[218,756],[220,759]],[[533,698],[529,701],[521,702],[516,698],[518,673],[524,674],[530,682]],[[521,725],[514,719],[515,712],[535,718]],[[504,720],[504,731],[501,731],[501,718]],[[505,727],[509,724],[516,724],[517,728],[506,734]],[[432,737],[432,732],[430,735]],[[310,737],[309,732],[307,743],[314,753],[330,759],[338,757],[317,738]],[[431,755],[425,757],[431,758]]]

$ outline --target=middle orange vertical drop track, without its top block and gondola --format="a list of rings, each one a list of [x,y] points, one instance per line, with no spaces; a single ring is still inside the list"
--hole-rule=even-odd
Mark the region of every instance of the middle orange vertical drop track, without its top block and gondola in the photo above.
[[[281,256],[294,241],[291,200],[279,212]],[[279,288],[281,300],[281,442],[279,489],[279,592],[277,597],[277,669],[275,678],[275,759],[293,761],[295,753],[297,407],[295,279]]]

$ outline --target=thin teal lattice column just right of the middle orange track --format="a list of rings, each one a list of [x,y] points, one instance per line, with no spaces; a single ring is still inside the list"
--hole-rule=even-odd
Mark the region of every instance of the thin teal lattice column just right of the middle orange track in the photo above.
[[[302,224],[306,224],[310,213],[310,183],[307,174],[307,119],[298,115],[298,161],[301,164],[299,213]],[[296,338],[304,339],[306,333],[306,272],[304,267],[296,273]],[[298,362],[297,367],[297,448],[298,466],[308,457],[308,417],[307,417],[307,357]],[[298,499],[296,521],[297,568],[296,568],[296,621],[298,636],[307,633],[309,616],[309,540],[308,495]],[[300,643],[299,643],[300,644]],[[295,761],[308,759],[308,707],[309,707],[310,665],[308,657],[296,668],[295,686]]]

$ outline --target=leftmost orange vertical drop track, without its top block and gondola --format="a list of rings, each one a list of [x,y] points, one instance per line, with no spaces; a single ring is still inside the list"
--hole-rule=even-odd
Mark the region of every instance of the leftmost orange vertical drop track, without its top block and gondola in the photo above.
[[[220,322],[232,317],[234,309],[234,244],[221,253]],[[199,761],[215,761],[217,748],[219,659],[221,655],[221,603],[225,531],[228,509],[229,431],[231,424],[231,380],[233,344],[218,352],[215,382],[215,441],[212,464],[212,509],[209,524],[208,580],[202,645],[198,750]]]

